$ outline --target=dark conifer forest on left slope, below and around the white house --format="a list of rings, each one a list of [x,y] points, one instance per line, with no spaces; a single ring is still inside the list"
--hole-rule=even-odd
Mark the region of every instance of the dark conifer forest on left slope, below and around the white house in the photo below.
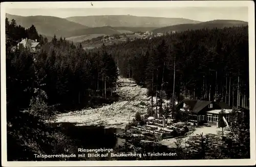
[[[50,42],[42,40],[36,55],[27,48],[12,52],[11,47],[21,38],[39,37],[34,26],[25,29],[15,20],[10,23],[6,19],[6,37],[8,160],[36,160],[34,153],[74,153],[70,150],[77,150],[73,141],[47,122],[60,111],[56,107],[84,107],[96,97],[111,97],[117,80],[114,59],[104,46],[87,54],[81,45],[56,37]],[[30,108],[29,112],[25,108]]]

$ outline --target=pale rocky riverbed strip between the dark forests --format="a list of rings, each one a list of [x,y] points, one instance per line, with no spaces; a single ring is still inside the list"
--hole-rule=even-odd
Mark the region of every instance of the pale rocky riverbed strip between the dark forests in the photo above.
[[[132,79],[119,77],[118,82],[130,82],[118,84],[116,89],[119,95],[118,102],[103,104],[102,107],[94,109],[62,113],[58,115],[57,122],[77,123],[77,126],[101,125],[123,128],[133,120],[137,111],[141,116],[146,114],[147,106],[151,105],[151,98],[147,97],[147,89],[138,86]]]

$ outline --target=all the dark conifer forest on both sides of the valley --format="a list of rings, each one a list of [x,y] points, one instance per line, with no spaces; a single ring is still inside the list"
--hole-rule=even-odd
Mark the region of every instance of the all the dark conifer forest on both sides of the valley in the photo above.
[[[240,106],[248,106],[247,31],[248,27],[186,31],[151,40],[103,45],[86,52],[81,44],[56,36],[48,41],[33,25],[25,29],[6,18],[8,160],[35,161],[38,159],[34,154],[77,153],[76,142],[48,121],[55,120],[61,107],[70,110],[99,103],[95,99],[107,101],[115,97],[119,73],[146,86],[149,96],[159,96],[159,92],[165,91],[166,98],[175,95],[177,100],[184,97],[212,100],[217,94],[230,105],[238,102]],[[27,48],[12,51],[22,38],[38,39],[41,50],[36,54]],[[240,94],[239,98],[235,92]],[[24,111],[25,108],[30,110]],[[230,149],[223,157],[248,158],[249,117],[234,118],[237,120],[230,125],[231,141],[227,141]],[[135,147],[141,152],[166,151],[153,146]],[[194,149],[199,150],[197,158],[207,159],[205,150]],[[180,159],[193,159],[179,144],[176,151]]]

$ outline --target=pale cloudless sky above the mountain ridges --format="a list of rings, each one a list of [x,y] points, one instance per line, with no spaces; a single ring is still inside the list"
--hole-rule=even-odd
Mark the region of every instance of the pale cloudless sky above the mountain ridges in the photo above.
[[[134,15],[176,17],[198,21],[234,19],[248,21],[247,7],[179,7],[179,8],[67,8],[67,9],[8,9],[7,13],[20,16],[45,15],[55,17],[89,15]]]

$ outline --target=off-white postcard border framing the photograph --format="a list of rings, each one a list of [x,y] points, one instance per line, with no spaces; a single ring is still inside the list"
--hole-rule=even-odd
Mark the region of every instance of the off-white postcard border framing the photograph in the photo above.
[[[93,3],[94,6],[91,6]],[[6,125],[5,9],[7,8],[160,8],[160,7],[248,7],[250,159],[148,160],[148,161],[8,161]],[[155,2],[5,2],[1,3],[1,128],[2,166],[173,166],[255,164],[255,23],[253,1],[155,1]]]

